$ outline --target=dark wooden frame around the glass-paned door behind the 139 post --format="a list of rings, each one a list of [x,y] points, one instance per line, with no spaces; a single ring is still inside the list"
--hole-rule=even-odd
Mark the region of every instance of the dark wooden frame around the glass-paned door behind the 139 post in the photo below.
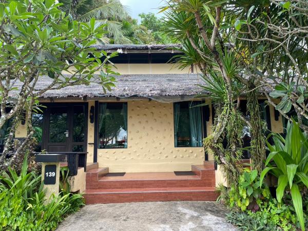
[[[78,102],[78,103],[44,103],[44,106],[46,106],[46,109],[43,112],[43,139],[42,139],[42,150],[48,148],[48,133],[49,133],[49,117],[50,113],[48,108],[50,107],[67,107],[67,117],[68,117],[68,128],[70,132],[69,140],[67,141],[67,149],[66,151],[71,151],[69,149],[72,148],[73,143],[78,143],[78,142],[72,142],[73,136],[73,107],[74,106],[84,106],[85,108],[85,140],[82,142],[84,145],[84,151],[87,151],[87,146],[88,146],[88,103],[87,102]],[[80,142],[81,143],[81,142]]]

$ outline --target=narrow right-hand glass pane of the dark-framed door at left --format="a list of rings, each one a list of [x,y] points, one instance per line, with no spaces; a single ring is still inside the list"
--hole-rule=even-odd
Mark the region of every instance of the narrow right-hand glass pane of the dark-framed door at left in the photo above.
[[[73,142],[85,140],[85,109],[84,106],[74,106]]]

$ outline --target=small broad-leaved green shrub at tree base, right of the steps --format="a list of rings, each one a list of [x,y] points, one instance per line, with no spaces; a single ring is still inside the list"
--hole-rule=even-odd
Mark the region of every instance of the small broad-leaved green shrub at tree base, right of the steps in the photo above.
[[[242,211],[246,209],[257,211],[259,210],[262,201],[269,199],[271,193],[265,184],[260,188],[260,181],[257,170],[245,170],[239,177],[238,185],[233,185],[229,190],[230,208],[239,207]]]

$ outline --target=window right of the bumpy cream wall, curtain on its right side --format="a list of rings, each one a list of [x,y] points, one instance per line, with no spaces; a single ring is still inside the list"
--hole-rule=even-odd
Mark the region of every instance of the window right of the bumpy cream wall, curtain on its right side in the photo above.
[[[202,147],[202,107],[200,101],[174,104],[175,146]]]

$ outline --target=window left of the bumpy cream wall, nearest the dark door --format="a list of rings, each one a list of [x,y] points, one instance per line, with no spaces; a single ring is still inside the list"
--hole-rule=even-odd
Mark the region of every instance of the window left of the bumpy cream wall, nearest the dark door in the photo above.
[[[127,103],[99,104],[99,148],[127,148]]]

